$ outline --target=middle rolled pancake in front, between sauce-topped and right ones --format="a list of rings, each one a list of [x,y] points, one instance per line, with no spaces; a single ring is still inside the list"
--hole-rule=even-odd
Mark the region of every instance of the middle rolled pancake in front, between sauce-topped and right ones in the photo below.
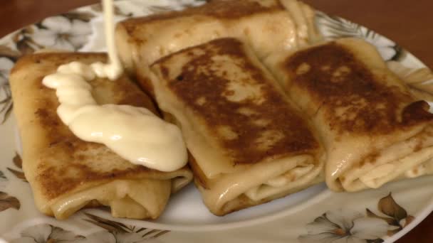
[[[323,149],[308,121],[240,41],[210,41],[151,68],[157,103],[181,127],[195,183],[215,215],[323,180]]]

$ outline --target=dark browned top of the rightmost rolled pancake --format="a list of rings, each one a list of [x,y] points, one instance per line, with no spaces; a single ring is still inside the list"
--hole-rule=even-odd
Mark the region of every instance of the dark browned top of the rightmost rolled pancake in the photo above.
[[[299,72],[306,64],[310,66],[308,71]],[[315,104],[320,104],[330,128],[340,133],[387,134],[433,119],[426,102],[410,104],[413,98],[407,90],[397,83],[385,85],[380,80],[385,77],[373,75],[343,45],[328,43],[301,50],[289,57],[283,67],[292,85],[305,90]]]

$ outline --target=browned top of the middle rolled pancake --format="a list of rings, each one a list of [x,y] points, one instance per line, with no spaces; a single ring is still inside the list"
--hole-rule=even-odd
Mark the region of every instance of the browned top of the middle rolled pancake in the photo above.
[[[165,62],[177,55],[188,56],[189,61],[179,75],[169,77],[170,67]],[[222,72],[225,69],[221,63],[235,65],[242,73],[228,75]],[[274,81],[249,60],[240,41],[211,41],[169,55],[155,65],[162,70],[169,89],[204,120],[207,130],[235,164],[258,163],[318,148],[306,120],[288,104]],[[240,91],[233,88],[239,85]],[[236,92],[241,92],[240,97]],[[205,105],[197,102],[202,97]]]

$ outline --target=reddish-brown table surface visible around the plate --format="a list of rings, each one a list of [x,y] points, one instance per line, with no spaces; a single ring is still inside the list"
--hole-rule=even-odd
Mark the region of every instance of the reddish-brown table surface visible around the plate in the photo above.
[[[145,0],[143,0],[145,1]],[[304,0],[326,13],[347,18],[381,33],[433,68],[432,0]],[[0,37],[44,17],[98,0],[0,1]],[[433,213],[397,243],[433,242]]]

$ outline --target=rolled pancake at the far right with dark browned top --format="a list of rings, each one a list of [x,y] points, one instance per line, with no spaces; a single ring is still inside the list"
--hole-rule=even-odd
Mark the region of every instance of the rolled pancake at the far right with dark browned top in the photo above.
[[[374,46],[355,38],[266,60],[324,141],[332,190],[378,188],[432,173],[433,115]]]

